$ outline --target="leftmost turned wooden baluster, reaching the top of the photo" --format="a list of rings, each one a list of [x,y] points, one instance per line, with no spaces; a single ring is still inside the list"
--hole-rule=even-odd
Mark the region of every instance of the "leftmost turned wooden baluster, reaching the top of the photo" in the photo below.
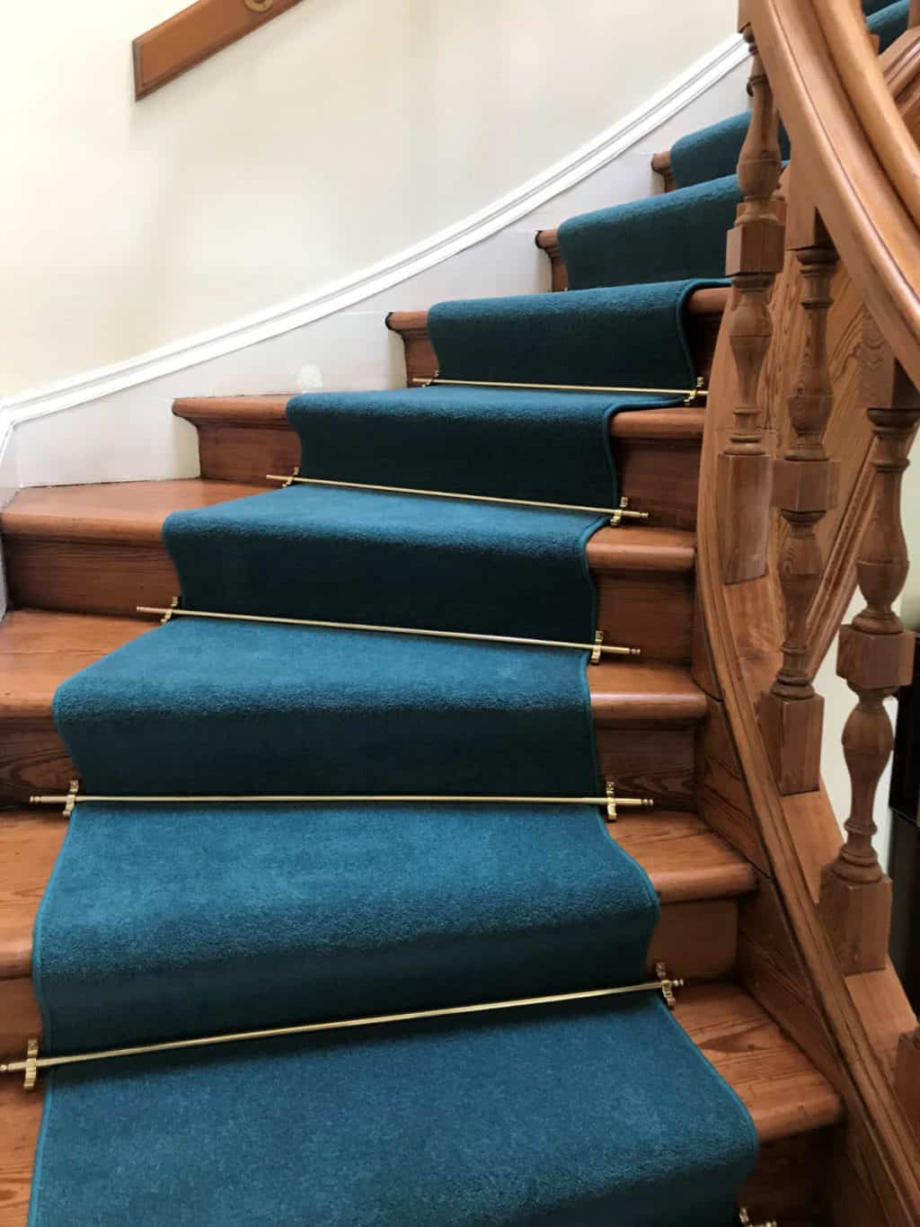
[[[774,198],[783,169],[779,119],[748,17],[748,0],[738,6],[738,28],[752,56],[751,123],[738,157],[745,200],[729,231],[725,264],[725,275],[735,286],[729,336],[738,374],[735,425],[719,456],[718,477],[720,555],[727,584],[762,575],[767,567],[772,461],[763,443],[758,384],[773,335],[769,297],[784,254],[781,206]]]

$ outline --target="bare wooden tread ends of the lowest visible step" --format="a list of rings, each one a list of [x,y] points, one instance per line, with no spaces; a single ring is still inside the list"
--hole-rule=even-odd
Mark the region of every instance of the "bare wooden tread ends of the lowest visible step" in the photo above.
[[[677,1020],[747,1104],[767,1147],[762,1162],[770,1144],[797,1136],[805,1145],[808,1134],[840,1119],[830,1085],[741,989],[684,989]],[[0,1227],[25,1227],[40,1112],[40,1092],[27,1094],[13,1077],[0,1082]]]

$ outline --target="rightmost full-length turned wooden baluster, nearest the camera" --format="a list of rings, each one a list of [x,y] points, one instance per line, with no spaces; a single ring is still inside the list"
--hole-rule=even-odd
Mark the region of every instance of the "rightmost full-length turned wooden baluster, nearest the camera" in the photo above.
[[[877,335],[872,321],[867,333]],[[877,383],[877,372],[873,374]],[[903,373],[895,371],[895,388]],[[819,910],[844,974],[886,966],[891,925],[891,880],[872,847],[878,780],[892,752],[893,734],[884,701],[910,682],[914,637],[892,609],[908,574],[900,521],[900,483],[920,409],[913,389],[910,407],[868,409],[876,437],[875,498],[856,575],[866,607],[840,629],[837,671],[859,703],[843,734],[850,772],[851,804],[846,840],[821,876]],[[897,401],[895,401],[897,402]]]

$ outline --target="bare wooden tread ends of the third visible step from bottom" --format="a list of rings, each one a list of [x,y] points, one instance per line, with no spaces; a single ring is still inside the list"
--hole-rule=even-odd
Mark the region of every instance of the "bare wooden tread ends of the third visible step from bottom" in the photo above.
[[[104,615],[12,610],[0,622],[0,715],[50,715],[66,677],[156,623]],[[605,660],[588,670],[595,720],[606,728],[693,724],[703,692],[678,665]]]

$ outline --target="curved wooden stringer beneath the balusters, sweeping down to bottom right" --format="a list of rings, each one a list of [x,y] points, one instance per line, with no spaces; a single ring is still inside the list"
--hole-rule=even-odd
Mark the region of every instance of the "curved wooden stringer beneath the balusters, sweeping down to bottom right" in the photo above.
[[[776,313],[784,313],[785,318],[788,306],[794,304],[795,294],[790,291],[786,267],[774,294],[774,319]],[[834,297],[840,308],[841,297],[837,293]],[[856,308],[857,302],[850,299],[850,309]],[[853,317],[849,325],[851,328]],[[845,326],[840,329],[843,333]],[[781,335],[780,329],[778,344],[783,344],[779,341]],[[778,358],[783,352],[779,351]],[[785,352],[797,351],[785,346]],[[846,1106],[846,1125],[835,1135],[832,1153],[837,1188],[846,1191],[838,1205],[829,1207],[830,1217],[835,1225],[846,1227],[861,1227],[867,1222],[873,1227],[913,1227],[920,1221],[915,1142],[894,1098],[891,1072],[873,1048],[872,1036],[880,1029],[873,1017],[875,1007],[868,1012],[856,1007],[813,904],[816,870],[819,872],[822,864],[821,860],[816,864],[816,858],[828,847],[834,852],[839,847],[835,820],[821,791],[785,799],[779,794],[757,725],[759,694],[769,686],[779,663],[775,575],[737,585],[721,582],[719,518],[724,508],[714,497],[715,461],[724,432],[730,429],[736,400],[736,373],[723,330],[713,367],[702,454],[698,584],[741,778],[749,791],[752,812],[757,816],[767,852],[767,869],[776,882],[808,991],[813,994],[830,1037],[834,1061],[827,1072],[833,1075],[835,1090]],[[829,444],[828,450],[832,450]],[[705,815],[703,795],[700,811]],[[891,994],[897,996],[897,983],[889,982],[889,987]],[[807,1055],[821,1067],[827,1045],[805,1027],[799,1038]]]

